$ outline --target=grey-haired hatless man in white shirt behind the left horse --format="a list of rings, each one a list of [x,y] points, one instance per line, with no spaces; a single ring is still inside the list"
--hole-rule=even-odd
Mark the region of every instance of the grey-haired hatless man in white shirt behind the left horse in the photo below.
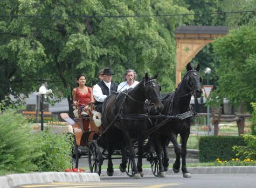
[[[126,73],[123,74],[124,82],[121,82],[118,85],[117,92],[128,90],[129,88],[134,88],[138,81],[135,81],[135,77],[137,76],[136,72],[133,69],[126,70]]]

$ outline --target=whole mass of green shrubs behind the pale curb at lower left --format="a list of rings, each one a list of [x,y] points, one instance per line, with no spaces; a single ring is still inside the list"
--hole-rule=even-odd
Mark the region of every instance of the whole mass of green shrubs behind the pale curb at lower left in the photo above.
[[[32,133],[22,114],[0,113],[0,168],[4,171],[63,171],[71,168],[72,139],[50,131]]]

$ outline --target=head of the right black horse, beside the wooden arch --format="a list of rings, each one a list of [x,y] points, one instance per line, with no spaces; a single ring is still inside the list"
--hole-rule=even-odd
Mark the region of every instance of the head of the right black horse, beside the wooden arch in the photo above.
[[[186,74],[184,76],[184,82],[186,85],[186,88],[189,90],[189,92],[192,93],[192,95],[195,95],[195,97],[200,97],[202,95],[202,77],[199,75],[198,71],[200,69],[199,64],[197,65],[196,69],[193,69],[191,66],[191,63],[188,63],[186,65]]]

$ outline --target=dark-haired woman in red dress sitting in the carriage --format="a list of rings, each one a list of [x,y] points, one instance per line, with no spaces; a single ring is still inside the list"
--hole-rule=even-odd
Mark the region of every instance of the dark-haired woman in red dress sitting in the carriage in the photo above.
[[[89,117],[88,114],[88,103],[94,102],[92,88],[85,86],[86,77],[85,75],[77,76],[77,88],[72,91],[73,104],[80,106],[82,117]]]

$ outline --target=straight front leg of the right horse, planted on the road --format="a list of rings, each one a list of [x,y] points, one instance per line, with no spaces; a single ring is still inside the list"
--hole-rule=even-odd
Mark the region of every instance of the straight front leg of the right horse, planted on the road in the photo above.
[[[191,177],[189,171],[186,169],[186,143],[188,142],[189,134],[190,134],[190,130],[186,131],[184,134],[181,134],[181,139],[182,139],[181,140],[181,147],[182,147],[182,152],[181,152],[182,168],[181,168],[181,170],[182,170],[184,178]]]

